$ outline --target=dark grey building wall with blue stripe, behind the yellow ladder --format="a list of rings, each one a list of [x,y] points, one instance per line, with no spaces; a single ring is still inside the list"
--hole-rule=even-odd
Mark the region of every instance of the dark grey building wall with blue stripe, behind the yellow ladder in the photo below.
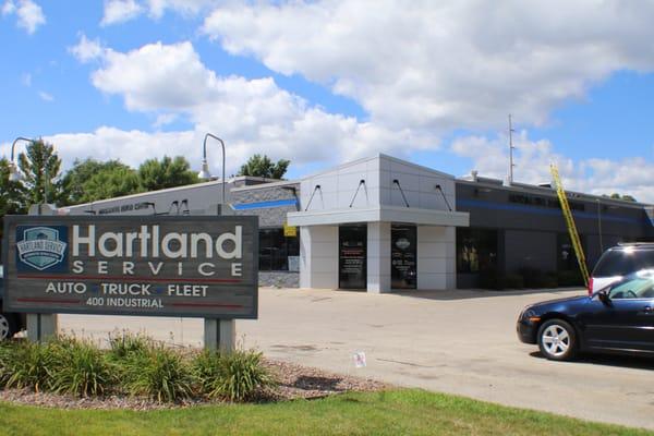
[[[603,250],[618,242],[654,238],[642,204],[576,193],[568,197],[590,269]],[[457,181],[457,210],[470,213],[472,229],[498,230],[500,274],[525,267],[557,271],[559,239],[567,237],[568,229],[554,190]],[[459,281],[460,287],[477,283],[470,274],[460,274]]]

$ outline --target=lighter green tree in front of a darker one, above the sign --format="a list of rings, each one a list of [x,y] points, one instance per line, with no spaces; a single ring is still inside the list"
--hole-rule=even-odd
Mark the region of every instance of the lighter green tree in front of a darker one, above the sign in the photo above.
[[[138,174],[132,168],[119,165],[104,168],[84,183],[82,203],[97,202],[138,193]]]

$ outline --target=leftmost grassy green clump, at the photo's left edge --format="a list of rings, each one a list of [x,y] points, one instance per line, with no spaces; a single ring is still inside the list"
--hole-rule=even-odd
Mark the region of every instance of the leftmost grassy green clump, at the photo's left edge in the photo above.
[[[56,365],[57,353],[50,343],[19,342],[4,360],[4,386],[48,390]]]

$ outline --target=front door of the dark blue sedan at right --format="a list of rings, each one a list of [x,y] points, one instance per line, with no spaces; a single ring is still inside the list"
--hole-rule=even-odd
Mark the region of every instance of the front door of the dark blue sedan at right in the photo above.
[[[608,304],[593,301],[591,312],[580,317],[586,347],[654,352],[654,280],[620,282],[609,298]]]

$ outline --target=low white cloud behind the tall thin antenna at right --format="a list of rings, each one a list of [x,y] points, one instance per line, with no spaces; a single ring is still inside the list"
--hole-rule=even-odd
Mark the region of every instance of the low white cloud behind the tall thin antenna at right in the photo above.
[[[455,141],[451,150],[472,160],[471,169],[480,175],[505,180],[508,174],[507,137],[467,136]],[[546,140],[532,141],[526,132],[514,136],[516,168],[513,180],[523,183],[548,183],[549,164],[556,164],[567,190],[591,194],[630,194],[645,203],[654,203],[654,161],[642,157],[622,159],[586,158],[573,160],[554,152]]]

